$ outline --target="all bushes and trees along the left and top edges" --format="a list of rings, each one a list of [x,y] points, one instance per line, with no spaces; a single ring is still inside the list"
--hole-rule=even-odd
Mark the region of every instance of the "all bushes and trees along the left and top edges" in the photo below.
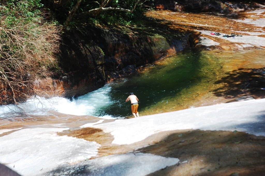
[[[54,55],[64,30],[137,23],[141,6],[140,0],[1,0],[0,103],[22,102],[35,94],[36,80],[61,73]]]

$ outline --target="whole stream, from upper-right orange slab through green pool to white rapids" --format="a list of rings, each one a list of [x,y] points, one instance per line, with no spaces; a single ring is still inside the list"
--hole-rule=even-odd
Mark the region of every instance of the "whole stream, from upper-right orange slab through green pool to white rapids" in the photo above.
[[[171,28],[201,33],[197,47],[144,65],[137,73],[83,96],[70,99],[35,96],[16,106],[2,105],[0,117],[12,121],[59,112],[104,119],[130,118],[130,105],[125,103],[129,92],[140,100],[140,115],[237,101],[236,98],[246,96],[263,98],[265,85],[260,76],[264,75],[265,31],[260,26],[265,20],[257,17],[263,13],[264,9],[259,9],[232,19],[233,16],[211,13],[149,12],[147,16],[170,23]],[[210,34],[215,31],[221,35]],[[243,37],[222,37],[231,31]]]

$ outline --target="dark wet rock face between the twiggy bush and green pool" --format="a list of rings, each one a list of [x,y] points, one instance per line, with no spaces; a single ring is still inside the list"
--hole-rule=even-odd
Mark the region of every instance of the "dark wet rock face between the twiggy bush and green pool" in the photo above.
[[[58,57],[64,70],[59,79],[65,96],[86,94],[194,45],[191,34],[161,35],[165,29],[159,30],[161,34],[150,34],[144,29],[128,32],[117,28],[84,26],[64,34]]]

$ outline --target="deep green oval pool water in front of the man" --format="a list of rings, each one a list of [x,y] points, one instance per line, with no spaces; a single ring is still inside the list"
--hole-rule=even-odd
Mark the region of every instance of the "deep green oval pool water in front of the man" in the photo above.
[[[139,98],[140,115],[185,109],[213,89],[224,73],[222,67],[220,59],[207,51],[182,51],[109,84],[113,103],[98,109],[95,115],[131,116],[130,103],[125,103],[129,92]]]

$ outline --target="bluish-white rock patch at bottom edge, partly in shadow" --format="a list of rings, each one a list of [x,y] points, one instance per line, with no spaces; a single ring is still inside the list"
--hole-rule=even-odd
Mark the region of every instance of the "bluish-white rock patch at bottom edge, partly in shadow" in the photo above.
[[[141,153],[108,155],[86,160],[76,165],[61,165],[46,173],[46,175],[126,176],[133,175],[132,173],[135,173],[135,175],[146,175],[150,173],[150,170],[154,170],[153,168],[161,168],[163,165],[166,165],[162,163],[163,160],[160,161],[161,159],[164,159],[165,162],[168,160],[162,157],[158,159],[154,155]],[[171,159],[171,162],[172,160],[174,160],[174,163],[177,163],[177,159]]]

